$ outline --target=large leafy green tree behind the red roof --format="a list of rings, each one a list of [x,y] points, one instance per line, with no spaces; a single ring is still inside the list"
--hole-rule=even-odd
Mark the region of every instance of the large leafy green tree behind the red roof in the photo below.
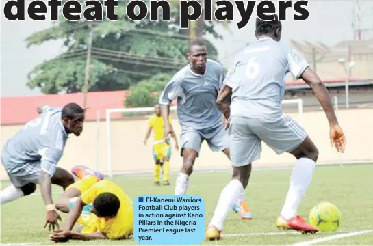
[[[149,1],[149,0],[148,0]],[[44,94],[81,92],[84,81],[88,34],[92,31],[92,60],[88,91],[127,90],[138,81],[159,73],[174,73],[188,63],[185,58],[188,36],[177,28],[178,9],[172,5],[172,20],[133,22],[125,15],[125,6],[116,13],[120,20],[70,22],[60,20],[53,27],[32,34],[27,47],[49,40],[63,40],[62,55],[42,62],[29,73],[27,86],[39,87]],[[103,15],[105,16],[105,14]],[[214,25],[207,32],[218,36]],[[218,52],[209,43],[209,57]]]

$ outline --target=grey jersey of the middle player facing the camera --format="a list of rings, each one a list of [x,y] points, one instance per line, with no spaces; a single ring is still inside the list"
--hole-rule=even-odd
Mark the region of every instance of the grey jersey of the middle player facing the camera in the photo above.
[[[182,68],[168,82],[159,104],[169,105],[177,98],[177,116],[181,128],[212,131],[222,124],[222,113],[216,98],[224,81],[224,69],[218,62],[207,59],[204,75],[195,74],[190,66]]]

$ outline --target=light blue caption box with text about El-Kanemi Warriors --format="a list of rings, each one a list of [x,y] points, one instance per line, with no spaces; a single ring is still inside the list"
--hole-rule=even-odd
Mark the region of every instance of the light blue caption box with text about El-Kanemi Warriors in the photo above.
[[[198,245],[205,238],[199,195],[140,195],[133,204],[133,238],[140,245]]]

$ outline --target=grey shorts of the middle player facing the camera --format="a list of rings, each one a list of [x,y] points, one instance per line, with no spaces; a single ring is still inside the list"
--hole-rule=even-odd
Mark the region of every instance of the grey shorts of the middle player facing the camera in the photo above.
[[[184,148],[192,148],[197,152],[197,156],[199,156],[201,144],[204,140],[207,141],[209,148],[214,152],[220,152],[230,146],[229,135],[223,123],[211,131],[198,131],[192,128],[183,128],[180,134],[181,155],[183,154]]]

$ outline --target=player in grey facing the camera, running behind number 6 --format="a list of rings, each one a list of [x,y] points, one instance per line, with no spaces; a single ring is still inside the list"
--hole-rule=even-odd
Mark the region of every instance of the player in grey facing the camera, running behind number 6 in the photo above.
[[[224,152],[229,158],[229,136],[224,128],[222,112],[216,105],[216,98],[222,81],[224,69],[218,62],[207,59],[205,42],[194,40],[186,54],[190,64],[179,70],[168,82],[159,99],[164,118],[164,137],[172,133],[168,123],[170,102],[177,98],[177,115],[181,125],[181,156],[183,167],[177,176],[175,194],[184,195],[192,174],[196,157],[199,156],[201,143],[206,140],[214,152]],[[244,202],[244,191],[237,197],[233,210],[242,219],[252,219],[253,215]]]

